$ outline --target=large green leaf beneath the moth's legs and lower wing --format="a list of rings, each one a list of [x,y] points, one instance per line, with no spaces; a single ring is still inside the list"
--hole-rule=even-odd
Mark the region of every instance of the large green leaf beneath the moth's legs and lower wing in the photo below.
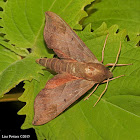
[[[93,33],[90,32],[90,27],[89,25],[85,30],[77,33],[97,56],[98,60],[101,60],[102,47],[106,34],[109,33],[104,64],[115,62],[121,41],[122,50],[119,63],[133,63],[133,65],[114,69],[114,77],[122,74],[125,74],[125,76],[109,83],[107,92],[94,108],[93,105],[104,90],[105,84],[100,85],[89,100],[84,101],[82,97],[58,117],[41,126],[32,125],[34,103],[33,100],[29,102],[28,99],[35,98],[50,77],[48,78],[48,74],[45,74],[45,77],[40,75],[42,83],[31,81],[29,87],[25,90],[26,95],[27,93],[28,95],[26,97],[23,94],[25,98],[22,99],[28,104],[19,114],[26,114],[22,129],[33,127],[38,139],[140,139],[140,87],[136,84],[140,80],[138,76],[140,74],[138,70],[140,49],[134,47],[133,42],[125,41],[126,30],[116,33],[117,25],[108,29],[106,24],[103,23]],[[101,31],[101,29],[104,29],[104,31]],[[34,82],[35,86],[33,86]],[[29,89],[32,90],[29,91]],[[84,96],[86,95],[87,93]]]

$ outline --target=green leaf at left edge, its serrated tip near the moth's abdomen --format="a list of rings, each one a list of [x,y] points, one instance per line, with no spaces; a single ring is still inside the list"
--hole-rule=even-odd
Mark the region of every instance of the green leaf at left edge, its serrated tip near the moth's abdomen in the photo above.
[[[41,67],[35,62],[37,57],[28,56],[14,61],[0,73],[0,96],[8,92],[23,80],[37,79],[38,73],[42,73]],[[6,60],[8,58],[6,57]]]

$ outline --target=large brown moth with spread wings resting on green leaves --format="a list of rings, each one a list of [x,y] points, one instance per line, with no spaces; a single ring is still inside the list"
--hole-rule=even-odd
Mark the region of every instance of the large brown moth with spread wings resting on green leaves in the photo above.
[[[64,20],[53,12],[45,15],[45,42],[60,59],[37,60],[58,74],[46,83],[35,99],[34,125],[51,121],[95,84],[113,76]]]

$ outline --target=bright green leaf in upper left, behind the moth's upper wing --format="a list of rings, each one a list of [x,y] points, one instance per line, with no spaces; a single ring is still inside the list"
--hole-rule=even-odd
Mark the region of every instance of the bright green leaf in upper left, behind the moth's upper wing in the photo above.
[[[71,27],[87,16],[84,6],[93,0],[12,0],[3,4],[0,31],[20,48],[31,48],[42,57],[50,57],[43,39],[45,11],[60,15]],[[77,26],[79,27],[79,26]]]

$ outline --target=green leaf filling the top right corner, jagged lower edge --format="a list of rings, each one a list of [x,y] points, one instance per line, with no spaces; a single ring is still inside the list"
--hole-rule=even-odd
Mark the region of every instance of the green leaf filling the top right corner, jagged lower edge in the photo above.
[[[96,0],[87,9],[89,16],[84,25],[92,23],[92,29],[96,29],[102,22],[110,27],[119,25],[119,29],[127,29],[130,40],[140,34],[140,1],[139,0]],[[138,41],[137,41],[138,42]]]

